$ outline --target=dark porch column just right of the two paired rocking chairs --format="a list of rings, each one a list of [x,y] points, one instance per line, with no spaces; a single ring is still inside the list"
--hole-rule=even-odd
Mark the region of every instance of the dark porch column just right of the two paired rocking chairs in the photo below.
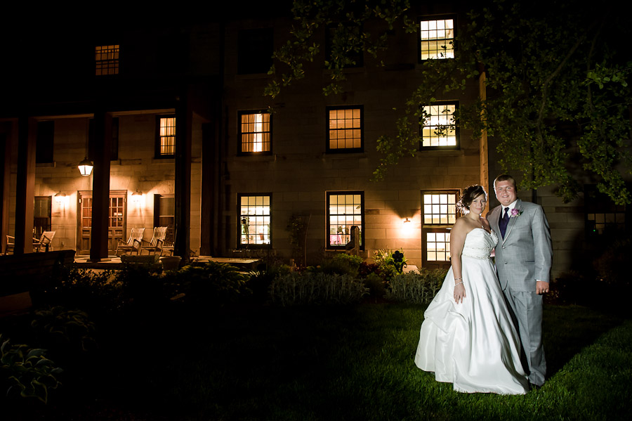
[[[176,242],[173,251],[174,255],[185,261],[189,259],[191,238],[192,125],[190,95],[185,88],[176,103]]]

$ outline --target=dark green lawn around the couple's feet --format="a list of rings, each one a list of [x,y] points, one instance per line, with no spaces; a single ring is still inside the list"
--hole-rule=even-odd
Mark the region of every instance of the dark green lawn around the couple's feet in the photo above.
[[[22,415],[47,420],[627,419],[631,320],[581,306],[546,306],[544,387],[526,396],[460,394],[413,363],[424,309],[362,304],[139,313],[108,332],[98,360],[68,370],[67,389],[57,403]]]

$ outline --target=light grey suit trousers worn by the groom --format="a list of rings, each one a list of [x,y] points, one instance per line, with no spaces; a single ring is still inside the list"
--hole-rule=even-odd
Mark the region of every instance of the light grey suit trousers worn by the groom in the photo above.
[[[503,292],[518,321],[520,342],[527,358],[529,382],[541,386],[546,374],[542,346],[542,296],[531,291],[511,291],[509,287]]]

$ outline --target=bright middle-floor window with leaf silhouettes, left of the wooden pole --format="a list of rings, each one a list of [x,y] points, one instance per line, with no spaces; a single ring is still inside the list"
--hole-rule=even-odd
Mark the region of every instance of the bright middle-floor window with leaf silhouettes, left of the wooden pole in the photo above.
[[[459,132],[454,121],[456,103],[442,103],[423,107],[421,148],[456,149]]]

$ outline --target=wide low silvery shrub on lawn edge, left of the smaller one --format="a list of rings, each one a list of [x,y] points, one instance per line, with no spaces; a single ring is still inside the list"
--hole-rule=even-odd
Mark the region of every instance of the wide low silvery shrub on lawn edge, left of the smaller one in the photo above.
[[[369,292],[361,280],[348,275],[322,272],[292,272],[279,276],[270,285],[274,304],[350,304],[360,302]]]

